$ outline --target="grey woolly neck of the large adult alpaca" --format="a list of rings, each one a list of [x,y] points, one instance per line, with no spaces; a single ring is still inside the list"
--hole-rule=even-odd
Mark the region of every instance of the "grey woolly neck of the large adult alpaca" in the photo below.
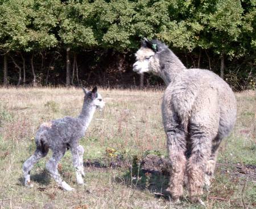
[[[167,86],[178,74],[187,69],[172,51],[168,53],[168,57],[163,57],[160,66],[162,69],[160,69],[158,76],[163,79]]]

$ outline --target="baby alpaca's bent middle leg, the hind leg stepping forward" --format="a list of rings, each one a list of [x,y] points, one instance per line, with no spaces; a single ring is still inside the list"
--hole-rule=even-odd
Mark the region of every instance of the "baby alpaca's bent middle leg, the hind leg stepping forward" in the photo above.
[[[55,179],[57,184],[61,186],[64,190],[71,191],[73,188],[68,185],[63,179],[61,179],[60,174],[57,169],[57,165],[61,158],[64,156],[66,148],[59,149],[58,151],[53,151],[52,157],[46,164],[46,169],[51,174],[51,176]]]

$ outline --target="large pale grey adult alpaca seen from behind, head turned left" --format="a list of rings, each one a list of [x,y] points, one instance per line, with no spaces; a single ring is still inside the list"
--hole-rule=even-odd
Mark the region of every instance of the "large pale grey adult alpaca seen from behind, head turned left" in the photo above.
[[[236,122],[236,98],[228,84],[204,69],[187,69],[161,41],[144,39],[134,72],[153,73],[167,85],[162,117],[172,174],[172,199],[183,195],[184,176],[192,202],[210,186],[218,147]]]

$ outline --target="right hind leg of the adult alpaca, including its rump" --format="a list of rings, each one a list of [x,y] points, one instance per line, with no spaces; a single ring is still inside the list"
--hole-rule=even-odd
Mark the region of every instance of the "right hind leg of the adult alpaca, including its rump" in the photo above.
[[[218,133],[220,108],[214,89],[202,91],[194,103],[188,124],[191,156],[187,161],[188,191],[192,202],[202,202],[205,169],[212,154],[212,142]]]

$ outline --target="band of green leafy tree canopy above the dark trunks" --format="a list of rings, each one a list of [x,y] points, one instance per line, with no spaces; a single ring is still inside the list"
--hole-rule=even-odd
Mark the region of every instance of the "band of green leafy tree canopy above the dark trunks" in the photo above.
[[[133,52],[148,37],[194,55],[208,49],[230,60],[255,57],[255,0],[2,0],[0,14],[4,53]]]

